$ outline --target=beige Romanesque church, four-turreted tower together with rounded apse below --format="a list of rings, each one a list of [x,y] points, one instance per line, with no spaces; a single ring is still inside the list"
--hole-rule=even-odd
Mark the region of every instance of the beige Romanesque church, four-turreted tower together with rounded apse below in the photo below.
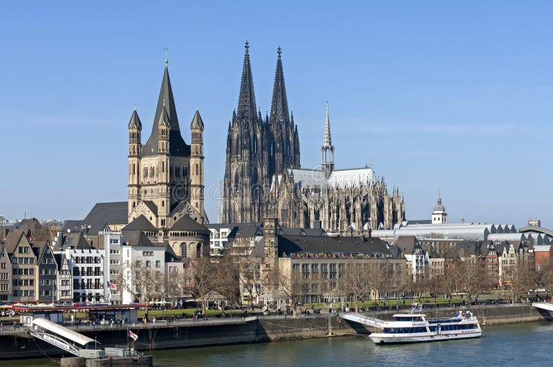
[[[153,242],[169,243],[183,258],[209,256],[209,230],[203,227],[207,223],[204,124],[197,109],[190,131],[188,145],[180,134],[166,64],[156,117],[146,144],[141,143],[142,123],[136,111],[129,121],[128,223]]]

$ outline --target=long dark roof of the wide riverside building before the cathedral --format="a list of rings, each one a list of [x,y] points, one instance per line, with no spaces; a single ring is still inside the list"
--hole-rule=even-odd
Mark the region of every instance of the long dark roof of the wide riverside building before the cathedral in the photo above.
[[[386,242],[375,237],[278,236],[279,256],[284,252],[339,252],[344,254],[382,254],[392,257]]]

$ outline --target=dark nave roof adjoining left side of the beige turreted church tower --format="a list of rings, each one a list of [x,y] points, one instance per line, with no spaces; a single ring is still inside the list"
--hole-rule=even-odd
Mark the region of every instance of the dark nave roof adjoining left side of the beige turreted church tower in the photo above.
[[[112,203],[96,203],[82,224],[89,225],[88,233],[97,236],[102,232],[106,224],[123,224],[129,220],[129,203],[115,201]]]

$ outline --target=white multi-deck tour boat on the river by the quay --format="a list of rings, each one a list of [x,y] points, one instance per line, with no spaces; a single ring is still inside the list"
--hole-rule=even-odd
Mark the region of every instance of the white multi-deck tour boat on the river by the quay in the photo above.
[[[376,344],[468,339],[482,335],[480,323],[470,311],[460,311],[451,318],[427,319],[424,314],[394,314],[393,319],[379,323],[382,332],[369,335]]]

